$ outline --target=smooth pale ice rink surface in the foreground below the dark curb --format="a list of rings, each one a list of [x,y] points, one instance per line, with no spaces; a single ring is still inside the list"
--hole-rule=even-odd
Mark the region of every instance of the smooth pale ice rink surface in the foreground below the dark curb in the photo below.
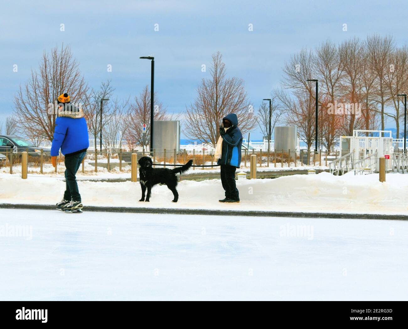
[[[404,221],[6,209],[0,214],[1,300],[408,296]]]

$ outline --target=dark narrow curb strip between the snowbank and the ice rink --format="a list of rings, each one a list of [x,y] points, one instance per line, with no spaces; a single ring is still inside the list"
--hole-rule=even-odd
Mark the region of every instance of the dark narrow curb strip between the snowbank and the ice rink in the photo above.
[[[55,205],[31,205],[0,203],[0,209],[35,209],[55,210]],[[288,212],[288,211],[255,211],[255,210],[219,210],[219,209],[181,209],[181,208],[146,208],[146,207],[101,207],[88,205],[86,211],[98,212],[131,212],[141,214],[184,214],[184,215],[213,215],[213,216],[258,216],[258,217],[298,217],[298,218],[335,218],[335,219],[386,219],[408,220],[408,215],[384,214],[344,214],[329,212]]]

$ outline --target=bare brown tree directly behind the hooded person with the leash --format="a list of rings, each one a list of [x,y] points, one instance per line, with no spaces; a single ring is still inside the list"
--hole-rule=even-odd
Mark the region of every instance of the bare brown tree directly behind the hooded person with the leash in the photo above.
[[[219,137],[222,118],[229,113],[238,117],[244,134],[257,124],[248,100],[244,80],[226,77],[225,64],[220,52],[212,56],[211,79],[202,79],[197,98],[186,107],[184,132],[191,138],[215,145]]]

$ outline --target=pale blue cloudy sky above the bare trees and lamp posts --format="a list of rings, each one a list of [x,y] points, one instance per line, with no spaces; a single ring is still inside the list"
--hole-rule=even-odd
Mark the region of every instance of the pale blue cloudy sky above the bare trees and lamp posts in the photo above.
[[[397,45],[404,44],[405,5],[349,0],[3,2],[0,115],[11,114],[13,95],[38,68],[43,51],[62,42],[71,46],[89,86],[111,79],[118,97],[134,97],[150,86],[150,63],[139,57],[154,55],[155,91],[170,112],[183,112],[193,102],[200,80],[210,75],[201,72],[201,65],[208,68],[211,55],[220,51],[227,74],[244,79],[257,108],[279,86],[285,60],[302,47],[373,33],[392,34]],[[65,31],[60,31],[62,23]],[[387,126],[395,125],[389,121]]]

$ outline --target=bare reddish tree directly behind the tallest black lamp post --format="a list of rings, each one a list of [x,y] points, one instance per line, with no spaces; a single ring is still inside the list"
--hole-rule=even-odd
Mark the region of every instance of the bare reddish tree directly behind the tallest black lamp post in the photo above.
[[[157,99],[155,93],[153,104],[153,120],[175,120],[177,116],[167,113],[162,102]],[[142,146],[150,144],[150,91],[146,85],[139,97],[135,97],[135,102],[129,106],[127,113],[128,129],[125,137],[130,143],[129,147]],[[146,131],[143,134],[142,125],[146,124]],[[144,135],[144,136],[143,136]]]

